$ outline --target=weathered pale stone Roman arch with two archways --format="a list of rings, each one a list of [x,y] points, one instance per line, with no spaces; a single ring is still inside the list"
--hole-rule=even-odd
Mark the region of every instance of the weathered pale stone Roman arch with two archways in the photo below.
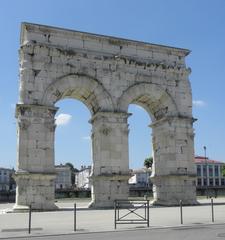
[[[91,206],[111,207],[115,199],[128,197],[129,104],[142,106],[152,120],[154,203],[195,204],[188,54],[186,49],[23,23],[15,210],[30,204],[56,208],[55,103],[64,98],[80,100],[91,113]]]

